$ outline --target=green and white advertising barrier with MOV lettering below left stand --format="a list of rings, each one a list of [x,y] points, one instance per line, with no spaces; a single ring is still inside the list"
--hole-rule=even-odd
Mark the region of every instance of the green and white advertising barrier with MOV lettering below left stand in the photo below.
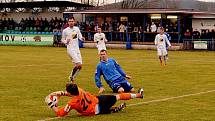
[[[0,33],[0,45],[52,46],[53,35]]]

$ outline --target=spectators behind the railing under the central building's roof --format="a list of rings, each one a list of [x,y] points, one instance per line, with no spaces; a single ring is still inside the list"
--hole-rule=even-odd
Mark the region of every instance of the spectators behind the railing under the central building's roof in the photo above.
[[[100,26],[103,32],[106,34],[108,40],[120,40],[125,41],[125,32],[128,31],[128,36],[132,41],[153,41],[155,35],[160,31],[160,24],[156,25],[154,22],[143,26],[141,22],[104,22],[103,24],[92,23],[78,23],[85,37],[88,40],[93,40],[93,35],[96,32],[96,28]],[[158,26],[158,27],[157,27]],[[172,36],[178,36],[177,25],[166,25],[166,32],[171,32]],[[177,37],[172,37],[177,38]]]

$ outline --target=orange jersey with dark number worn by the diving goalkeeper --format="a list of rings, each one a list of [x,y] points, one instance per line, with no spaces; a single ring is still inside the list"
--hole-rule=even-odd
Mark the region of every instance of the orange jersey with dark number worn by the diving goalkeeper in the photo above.
[[[75,109],[81,115],[95,115],[98,98],[81,88],[78,88],[78,91],[79,95],[73,96],[65,107],[59,109],[57,116],[66,115],[71,109]]]

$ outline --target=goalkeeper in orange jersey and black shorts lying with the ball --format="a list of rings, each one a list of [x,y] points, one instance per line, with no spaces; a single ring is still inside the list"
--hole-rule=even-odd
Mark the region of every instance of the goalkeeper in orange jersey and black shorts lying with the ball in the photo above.
[[[58,102],[51,100],[50,97],[67,96],[70,101],[65,107],[58,108]],[[48,95],[45,99],[46,103],[50,108],[54,110],[57,116],[65,116],[72,109],[76,110],[81,115],[98,115],[98,114],[109,114],[118,112],[123,109],[126,105],[121,104],[119,107],[112,107],[117,100],[129,100],[132,98],[143,98],[143,89],[139,90],[139,93],[121,93],[118,95],[100,95],[94,96],[89,92],[85,92],[74,83],[66,84],[66,91],[57,91]],[[59,100],[58,100],[59,101]]]

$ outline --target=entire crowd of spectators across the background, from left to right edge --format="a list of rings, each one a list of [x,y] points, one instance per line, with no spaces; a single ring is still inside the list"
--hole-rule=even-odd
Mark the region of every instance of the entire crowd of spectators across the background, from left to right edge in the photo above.
[[[67,26],[66,19],[63,18],[22,18],[20,22],[14,21],[13,18],[0,19],[0,32],[5,31],[19,31],[19,32],[53,32],[58,34],[63,28]],[[129,38],[132,41],[152,41],[157,32],[160,32],[161,25],[159,23],[148,22],[143,26],[141,22],[119,22],[119,21],[105,21],[103,24],[95,24],[93,22],[77,22],[77,26],[82,31],[87,40],[93,40],[93,35],[96,33],[97,27],[100,26],[109,41],[119,40],[125,41],[126,30]],[[172,38],[177,38],[178,31],[177,23],[166,24],[163,26],[166,32],[171,33]],[[173,34],[172,34],[173,33]],[[176,37],[174,37],[176,36]],[[215,39],[215,30],[202,30],[201,33],[195,29],[186,29],[183,33],[183,39]]]

